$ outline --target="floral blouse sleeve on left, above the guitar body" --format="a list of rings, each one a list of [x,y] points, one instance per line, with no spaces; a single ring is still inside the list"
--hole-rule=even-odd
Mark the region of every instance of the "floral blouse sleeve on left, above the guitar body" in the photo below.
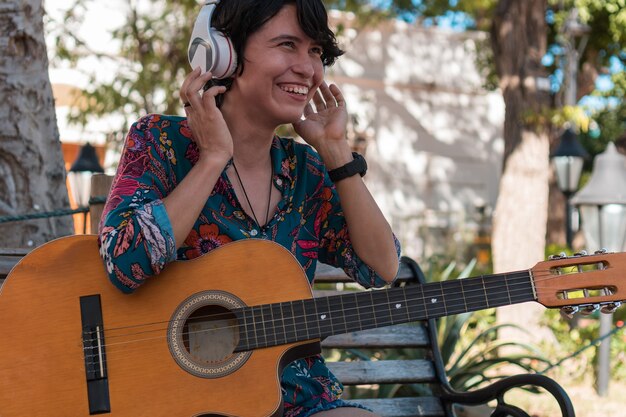
[[[125,293],[176,259],[162,201],[175,186],[173,151],[164,123],[157,122],[158,116],[146,116],[132,125],[102,213],[100,255],[109,279]]]

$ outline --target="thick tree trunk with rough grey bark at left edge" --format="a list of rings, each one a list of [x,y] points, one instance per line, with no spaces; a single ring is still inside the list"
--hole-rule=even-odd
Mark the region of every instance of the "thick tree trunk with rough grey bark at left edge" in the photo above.
[[[41,0],[0,4],[0,216],[69,207]],[[72,233],[69,216],[0,223],[0,246]]]

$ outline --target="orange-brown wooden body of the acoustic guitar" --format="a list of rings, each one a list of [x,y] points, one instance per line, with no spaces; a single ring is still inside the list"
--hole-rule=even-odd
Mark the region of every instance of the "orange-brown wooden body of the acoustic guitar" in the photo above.
[[[175,360],[168,323],[186,300],[211,289],[248,306],[311,298],[295,258],[263,240],[174,262],[131,295],[108,282],[95,236],[35,249],[0,288],[0,416],[90,415],[79,299],[96,294],[110,395],[104,415],[281,415],[282,367],[317,353],[319,340],[246,352],[245,363],[223,376],[194,375]]]

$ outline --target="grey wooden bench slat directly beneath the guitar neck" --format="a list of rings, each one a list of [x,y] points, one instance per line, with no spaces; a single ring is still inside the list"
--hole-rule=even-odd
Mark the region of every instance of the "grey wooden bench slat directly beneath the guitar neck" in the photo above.
[[[329,336],[322,341],[328,349],[347,348],[424,348],[430,347],[430,339],[422,325],[396,325]]]

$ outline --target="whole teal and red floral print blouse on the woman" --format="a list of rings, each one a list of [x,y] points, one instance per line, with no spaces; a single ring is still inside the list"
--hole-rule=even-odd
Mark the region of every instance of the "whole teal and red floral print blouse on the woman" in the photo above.
[[[308,145],[279,137],[270,152],[273,183],[282,199],[268,223],[259,228],[244,212],[225,168],[177,250],[162,199],[198,161],[198,148],[183,117],[149,115],[134,123],[100,225],[100,254],[112,283],[129,293],[170,261],[254,237],[291,251],[309,282],[319,260],[343,268],[365,287],[385,285],[354,252],[338,194],[320,156]],[[397,241],[396,246],[399,254]],[[281,382],[285,416],[345,405],[339,399],[341,384],[319,355],[287,366]]]

